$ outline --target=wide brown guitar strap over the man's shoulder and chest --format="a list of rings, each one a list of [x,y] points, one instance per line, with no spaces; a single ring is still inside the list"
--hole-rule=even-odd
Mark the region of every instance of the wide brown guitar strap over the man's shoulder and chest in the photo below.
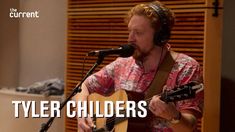
[[[149,88],[145,92],[145,99],[152,98],[154,95],[162,92],[162,88],[166,84],[166,80],[175,63],[173,54],[176,54],[176,53],[173,51],[169,51],[166,53],[166,56],[163,62],[160,64],[158,71],[156,71],[156,74],[152,83],[150,84]]]

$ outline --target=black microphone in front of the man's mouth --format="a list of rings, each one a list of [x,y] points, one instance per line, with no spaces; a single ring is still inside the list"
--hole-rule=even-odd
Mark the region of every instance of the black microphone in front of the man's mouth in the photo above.
[[[103,49],[103,50],[96,50],[91,51],[88,53],[88,56],[107,56],[116,54],[120,57],[130,57],[133,55],[135,51],[134,46],[131,44],[121,45],[119,48],[111,48],[111,49]]]

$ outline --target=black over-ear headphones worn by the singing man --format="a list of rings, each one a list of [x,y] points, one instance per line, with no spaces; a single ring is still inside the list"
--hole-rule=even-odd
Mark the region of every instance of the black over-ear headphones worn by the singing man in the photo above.
[[[164,10],[160,6],[154,5],[152,3],[150,3],[148,6],[157,13],[160,20],[160,29],[155,31],[153,42],[157,46],[163,46],[170,39],[171,29],[169,20],[164,13]]]

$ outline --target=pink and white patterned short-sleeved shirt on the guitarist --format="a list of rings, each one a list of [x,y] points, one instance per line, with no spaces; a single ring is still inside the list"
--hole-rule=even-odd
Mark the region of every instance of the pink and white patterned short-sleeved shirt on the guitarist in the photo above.
[[[144,92],[150,86],[156,70],[145,72],[143,66],[132,57],[117,58],[99,72],[89,76],[85,81],[85,85],[90,93],[97,92],[102,95],[110,95],[120,88],[128,91]],[[193,58],[179,53],[166,81],[167,89],[173,89],[191,81],[202,82],[200,65]],[[199,113],[200,117],[203,108],[203,91],[193,99],[178,101],[176,107],[179,110],[194,110]],[[168,128],[169,123],[166,120],[157,120],[155,122],[158,123],[154,125],[156,131],[172,131]]]

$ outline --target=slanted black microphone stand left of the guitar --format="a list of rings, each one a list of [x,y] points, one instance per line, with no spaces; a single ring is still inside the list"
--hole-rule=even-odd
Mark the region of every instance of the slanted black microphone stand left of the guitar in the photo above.
[[[63,109],[63,107],[67,104],[67,102],[77,93],[80,93],[82,91],[81,89],[81,85],[82,83],[86,80],[86,78],[88,76],[90,76],[90,74],[92,74],[92,72],[95,70],[95,68],[97,66],[99,66],[102,61],[104,60],[105,55],[104,54],[99,54],[98,55],[98,59],[96,61],[96,63],[93,65],[93,67],[91,67],[91,69],[87,72],[87,74],[83,77],[83,79],[81,80],[81,82],[79,84],[77,84],[75,86],[75,88],[73,89],[72,93],[60,104],[60,108],[59,110],[61,111]],[[47,132],[47,130],[51,127],[55,117],[57,116],[57,113],[55,112],[54,117],[50,117],[49,120],[46,123],[42,123],[41,124],[41,129],[40,132]]]

